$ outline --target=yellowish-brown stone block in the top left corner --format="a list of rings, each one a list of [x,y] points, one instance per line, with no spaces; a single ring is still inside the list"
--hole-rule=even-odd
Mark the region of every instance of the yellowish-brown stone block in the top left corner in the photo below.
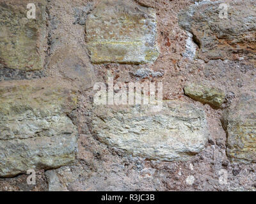
[[[46,15],[44,0],[33,1],[36,19],[28,19],[30,1],[0,2],[0,68],[40,70],[44,67]]]

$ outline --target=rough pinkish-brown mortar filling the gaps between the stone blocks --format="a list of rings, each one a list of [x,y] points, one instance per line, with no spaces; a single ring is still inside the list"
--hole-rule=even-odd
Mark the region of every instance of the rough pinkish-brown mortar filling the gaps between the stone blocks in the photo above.
[[[3,1],[0,0],[0,3]],[[242,160],[231,162],[227,156],[227,134],[220,120],[225,107],[235,106],[241,94],[256,92],[255,63],[248,60],[252,59],[251,52],[246,54],[247,50],[244,49],[237,57],[224,55],[228,59],[224,61],[211,59],[208,62],[207,59],[198,59],[200,47],[195,47],[195,35],[180,27],[179,13],[181,10],[188,10],[189,6],[198,6],[203,1],[133,0],[136,6],[156,11],[159,57],[154,63],[147,64],[92,63],[83,24],[88,15],[97,9],[100,1],[46,1],[46,24],[49,32],[45,37],[45,68],[29,72],[12,68],[0,71],[0,80],[10,80],[10,84],[20,84],[12,80],[30,80],[46,75],[56,78],[55,83],[63,89],[70,89],[70,84],[72,87],[79,87],[77,109],[68,113],[79,133],[78,153],[74,163],[53,170],[56,184],[67,187],[68,191],[256,191],[256,163]],[[15,0],[17,8],[22,4],[20,10],[26,10],[24,2],[26,1]],[[236,10],[255,8],[248,6],[248,1],[245,0],[225,2],[231,6],[240,4],[241,6],[233,8]],[[254,0],[250,2],[255,3]],[[201,20],[204,18],[198,19],[198,23]],[[250,24],[254,25],[255,22]],[[225,19],[220,21],[220,26],[226,26]],[[205,30],[208,32],[207,28],[208,26]],[[227,38],[228,36],[229,34]],[[236,37],[230,34],[230,38]],[[197,44],[200,45],[198,42]],[[218,51],[223,54],[223,48],[220,47]],[[159,161],[134,157],[93,136],[90,126],[95,92],[92,87],[96,82],[107,84],[109,77],[114,78],[114,83],[163,82],[164,99],[175,99],[200,107],[205,112],[210,133],[205,149],[190,156],[188,161]],[[54,84],[49,78],[33,80],[35,84],[47,82],[49,85]],[[184,86],[193,83],[225,91],[227,101],[222,105],[224,108],[212,108],[185,96]],[[227,173],[227,184],[220,183],[223,172]],[[48,191],[51,189],[51,179],[47,179],[46,175],[44,169],[36,171],[36,185],[27,184],[26,174],[0,178],[0,191]]]

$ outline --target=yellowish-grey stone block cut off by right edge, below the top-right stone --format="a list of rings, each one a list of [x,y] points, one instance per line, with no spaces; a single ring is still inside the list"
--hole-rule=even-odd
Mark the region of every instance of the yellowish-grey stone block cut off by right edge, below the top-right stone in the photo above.
[[[227,155],[232,162],[256,162],[256,96],[244,93],[223,115]]]

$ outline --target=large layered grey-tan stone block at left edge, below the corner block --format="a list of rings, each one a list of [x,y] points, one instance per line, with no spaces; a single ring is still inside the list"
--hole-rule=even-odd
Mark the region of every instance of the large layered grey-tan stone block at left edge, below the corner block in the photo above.
[[[56,79],[44,80],[1,82],[1,177],[75,159],[77,130],[67,114],[76,108],[76,95]]]

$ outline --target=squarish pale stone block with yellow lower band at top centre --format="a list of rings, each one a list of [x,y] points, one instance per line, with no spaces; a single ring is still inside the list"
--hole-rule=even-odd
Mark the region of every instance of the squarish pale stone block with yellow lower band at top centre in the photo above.
[[[156,61],[156,11],[131,0],[104,0],[86,20],[86,41],[94,63]]]

